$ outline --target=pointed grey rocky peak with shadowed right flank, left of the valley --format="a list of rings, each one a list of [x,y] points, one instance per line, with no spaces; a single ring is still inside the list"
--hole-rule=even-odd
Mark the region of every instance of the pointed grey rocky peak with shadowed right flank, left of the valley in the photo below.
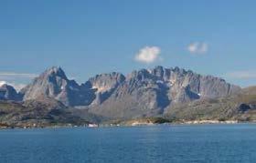
[[[88,105],[91,92],[82,89],[74,80],[69,80],[60,67],[51,67],[35,78],[21,92],[24,100],[52,97],[66,106]]]

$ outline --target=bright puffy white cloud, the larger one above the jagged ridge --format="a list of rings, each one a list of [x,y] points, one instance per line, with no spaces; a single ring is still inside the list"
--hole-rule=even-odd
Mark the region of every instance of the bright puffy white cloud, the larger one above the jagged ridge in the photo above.
[[[161,60],[161,49],[157,46],[145,46],[135,55],[135,61],[151,64],[156,60]]]

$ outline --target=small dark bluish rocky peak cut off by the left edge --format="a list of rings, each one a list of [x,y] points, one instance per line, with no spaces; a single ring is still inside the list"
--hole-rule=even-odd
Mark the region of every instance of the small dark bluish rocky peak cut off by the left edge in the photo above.
[[[9,85],[2,85],[0,87],[0,100],[15,100],[19,101],[22,99],[22,96],[17,94],[16,89]]]

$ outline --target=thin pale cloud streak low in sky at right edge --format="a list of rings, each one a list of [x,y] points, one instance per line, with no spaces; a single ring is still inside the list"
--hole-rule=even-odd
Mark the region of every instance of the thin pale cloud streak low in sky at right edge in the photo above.
[[[235,79],[256,79],[256,72],[253,71],[234,71],[228,73],[226,76]]]

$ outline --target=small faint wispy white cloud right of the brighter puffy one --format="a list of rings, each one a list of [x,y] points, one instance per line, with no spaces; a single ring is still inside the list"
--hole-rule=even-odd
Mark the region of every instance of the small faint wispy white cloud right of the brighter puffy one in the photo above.
[[[208,52],[208,44],[205,42],[194,42],[187,46],[187,50],[193,54],[206,54]]]

